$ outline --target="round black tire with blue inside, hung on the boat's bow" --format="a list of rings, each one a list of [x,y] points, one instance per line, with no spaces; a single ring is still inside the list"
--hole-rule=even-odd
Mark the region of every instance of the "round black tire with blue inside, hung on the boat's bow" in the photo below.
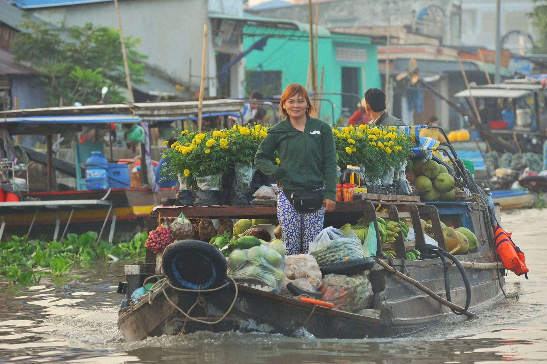
[[[171,283],[184,289],[212,289],[226,281],[226,259],[216,246],[200,240],[167,245],[162,268]]]

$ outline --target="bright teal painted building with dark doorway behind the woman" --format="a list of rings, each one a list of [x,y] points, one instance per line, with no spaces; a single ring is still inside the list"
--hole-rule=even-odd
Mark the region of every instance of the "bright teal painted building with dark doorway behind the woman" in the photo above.
[[[309,26],[295,24],[299,30],[249,25],[243,28],[243,49],[248,49],[263,37],[270,37],[262,51],[253,50],[246,56],[247,93],[259,89],[266,95],[280,95],[289,84],[306,85],[310,57]],[[350,113],[357,109],[366,89],[381,88],[376,44],[370,37],[331,33],[321,26],[318,30],[318,89],[324,68],[323,92],[347,92],[359,96],[323,94],[322,98],[333,103],[334,120],[337,120],[342,108],[348,108]],[[319,116],[332,123],[331,115],[330,103],[323,101]]]

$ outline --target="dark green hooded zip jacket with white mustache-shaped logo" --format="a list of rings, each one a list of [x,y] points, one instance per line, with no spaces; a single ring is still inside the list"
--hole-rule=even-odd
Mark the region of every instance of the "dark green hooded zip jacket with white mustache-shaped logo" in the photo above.
[[[277,150],[281,165],[272,162]],[[304,132],[288,119],[268,131],[258,147],[254,164],[266,175],[280,180],[287,191],[311,191],[325,185],[324,199],[336,201],[336,151],[331,127],[307,116]]]

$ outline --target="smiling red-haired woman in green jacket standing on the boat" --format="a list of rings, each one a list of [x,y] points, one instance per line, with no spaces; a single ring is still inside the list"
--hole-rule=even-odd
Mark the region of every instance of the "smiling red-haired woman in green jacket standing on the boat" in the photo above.
[[[336,152],[330,126],[314,112],[304,86],[288,85],[279,104],[285,119],[262,140],[254,163],[277,180],[277,218],[287,254],[307,253],[336,205]],[[277,150],[279,162],[272,162]]]

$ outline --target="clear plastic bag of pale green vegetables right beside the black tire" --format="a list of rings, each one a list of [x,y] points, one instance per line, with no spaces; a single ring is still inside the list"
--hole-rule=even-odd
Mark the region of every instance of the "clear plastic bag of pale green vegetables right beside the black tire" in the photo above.
[[[250,249],[234,249],[226,258],[228,275],[233,277],[257,278],[273,289],[281,292],[285,277],[285,257],[265,245]]]

